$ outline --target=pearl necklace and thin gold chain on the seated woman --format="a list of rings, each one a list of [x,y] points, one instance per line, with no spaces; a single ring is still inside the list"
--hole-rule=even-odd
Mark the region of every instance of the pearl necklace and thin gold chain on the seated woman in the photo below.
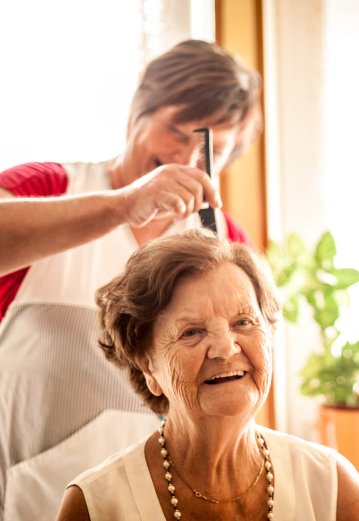
[[[162,421],[162,424],[161,424],[161,427],[158,429],[159,430],[159,433],[160,433],[160,437],[158,439],[160,445],[161,445],[161,454],[163,456],[163,466],[165,468],[165,475],[164,475],[164,478],[168,481],[168,490],[170,491],[170,494],[171,494],[171,504],[173,505],[173,508],[174,508],[174,517],[176,519],[180,519],[181,517],[181,512],[178,510],[178,499],[176,498],[175,496],[175,487],[172,485],[172,474],[169,472],[169,468],[172,464],[173,468],[176,470],[172,460],[171,460],[171,457],[168,453],[168,450],[166,449],[166,446],[165,446],[165,439],[164,439],[164,436],[163,436],[163,430],[164,430],[164,424],[165,424],[165,420]],[[260,445],[260,448],[261,448],[261,451],[262,451],[262,454],[263,454],[263,458],[264,458],[264,468],[265,468],[265,471],[266,471],[266,480],[268,481],[268,487],[267,487],[267,492],[268,492],[268,500],[267,500],[267,505],[268,505],[268,513],[267,513],[267,519],[273,521],[273,505],[274,505],[274,501],[273,501],[273,497],[274,497],[274,486],[273,486],[273,473],[271,472],[271,467],[272,467],[272,464],[271,462],[269,461],[269,451],[266,447],[266,444],[265,444],[265,441],[262,437],[262,435],[259,433],[259,432],[256,432],[256,436],[257,436],[257,440],[258,440],[258,443]],[[186,485],[196,494],[196,497],[197,498],[202,498],[206,501],[211,501],[212,503],[227,503],[228,501],[236,501],[240,498],[243,497],[243,495],[247,494],[258,482],[259,480],[259,477],[262,473],[262,469],[263,469],[263,462],[262,462],[262,466],[261,466],[261,469],[260,469],[260,472],[258,473],[257,477],[255,478],[254,480],[254,483],[249,487],[248,490],[246,490],[246,492],[243,492],[242,494],[240,494],[237,498],[232,498],[232,499],[229,499],[229,500],[211,500],[209,498],[207,498],[205,495],[201,494],[200,492],[194,490],[192,487],[190,487],[188,485],[188,483],[182,478],[182,476],[180,474],[178,474],[178,471],[176,470],[178,476],[186,483]]]

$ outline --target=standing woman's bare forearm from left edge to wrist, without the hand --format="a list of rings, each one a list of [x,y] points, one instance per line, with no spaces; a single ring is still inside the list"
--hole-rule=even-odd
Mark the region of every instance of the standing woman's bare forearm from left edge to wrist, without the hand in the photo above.
[[[0,274],[98,239],[126,221],[120,191],[0,199]]]

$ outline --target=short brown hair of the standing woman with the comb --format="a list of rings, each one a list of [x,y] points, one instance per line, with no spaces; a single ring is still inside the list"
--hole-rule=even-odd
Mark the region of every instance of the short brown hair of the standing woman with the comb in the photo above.
[[[130,108],[127,137],[139,118],[175,105],[180,109],[177,123],[214,118],[213,125],[225,123],[239,130],[251,120],[251,141],[262,129],[261,85],[258,72],[219,45],[202,40],[179,43],[143,71]],[[239,141],[229,161],[247,145]]]

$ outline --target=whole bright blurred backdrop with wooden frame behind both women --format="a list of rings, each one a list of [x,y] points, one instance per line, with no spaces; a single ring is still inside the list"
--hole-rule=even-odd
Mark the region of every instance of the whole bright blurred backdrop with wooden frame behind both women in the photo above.
[[[0,169],[117,156],[146,61],[185,39],[216,40],[263,77],[264,133],[223,173],[224,208],[261,250],[291,232],[312,248],[330,230],[338,267],[359,269],[357,27],[355,0],[3,2]],[[356,340],[357,286],[346,316]],[[308,313],[279,328],[259,419],[318,441],[318,403],[299,393],[320,342]]]

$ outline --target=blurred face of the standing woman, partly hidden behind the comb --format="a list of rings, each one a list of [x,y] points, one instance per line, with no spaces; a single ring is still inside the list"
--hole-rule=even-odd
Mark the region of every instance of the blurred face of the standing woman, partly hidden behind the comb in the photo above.
[[[178,107],[162,107],[154,114],[141,118],[132,130],[127,143],[124,163],[132,171],[132,179],[145,175],[160,165],[177,163],[196,166],[198,157],[197,134],[201,127],[213,131],[213,174],[218,175],[232,152],[237,128],[213,125],[211,118],[175,123]]]

